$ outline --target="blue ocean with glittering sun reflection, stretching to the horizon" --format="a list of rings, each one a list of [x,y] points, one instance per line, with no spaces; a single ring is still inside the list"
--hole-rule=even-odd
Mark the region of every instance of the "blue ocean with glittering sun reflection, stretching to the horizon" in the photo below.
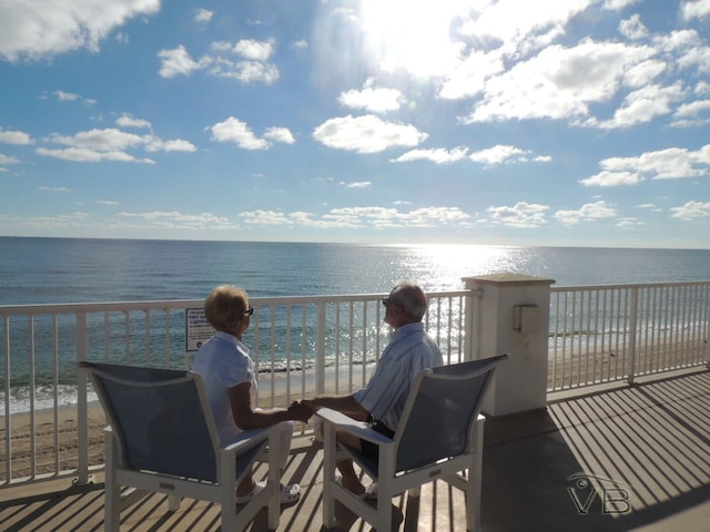
[[[554,279],[555,286],[702,282],[710,280],[710,250],[0,237],[0,307],[203,299],[223,283],[244,287],[251,298],[385,294],[403,279],[427,291],[447,291],[463,289],[463,277],[501,272]],[[27,323],[10,327],[20,336],[23,328]],[[4,330],[0,323],[0,335]],[[184,321],[173,324],[173,332],[180,337]],[[50,342],[51,335],[44,336],[42,341]],[[19,412],[30,405],[30,371],[22,356],[27,346],[11,344],[10,407]],[[51,349],[40,340],[37,347],[36,405],[50,406]],[[0,346],[0,412],[4,351]],[[74,351],[69,346],[61,352],[60,400],[69,405],[75,400]]]

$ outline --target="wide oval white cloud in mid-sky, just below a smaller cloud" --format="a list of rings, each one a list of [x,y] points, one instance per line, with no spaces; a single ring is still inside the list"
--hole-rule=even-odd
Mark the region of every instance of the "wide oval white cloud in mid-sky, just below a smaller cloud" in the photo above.
[[[416,146],[428,136],[414,125],[385,122],[368,114],[326,120],[313,136],[324,145],[357,153],[378,153],[396,146]]]

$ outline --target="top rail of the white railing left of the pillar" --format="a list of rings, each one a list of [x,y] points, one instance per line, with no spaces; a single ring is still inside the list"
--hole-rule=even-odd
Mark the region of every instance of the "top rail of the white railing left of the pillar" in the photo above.
[[[427,296],[432,298],[462,297],[476,290],[432,291]],[[284,296],[284,297],[252,297],[250,301],[257,306],[268,305],[308,305],[322,301],[374,301],[384,296],[382,294],[346,294],[325,296]],[[164,299],[164,300],[134,300],[134,301],[106,301],[106,303],[65,303],[42,305],[3,305],[0,306],[0,316],[27,316],[34,314],[77,314],[102,313],[123,310],[165,310],[202,307],[204,299]]]

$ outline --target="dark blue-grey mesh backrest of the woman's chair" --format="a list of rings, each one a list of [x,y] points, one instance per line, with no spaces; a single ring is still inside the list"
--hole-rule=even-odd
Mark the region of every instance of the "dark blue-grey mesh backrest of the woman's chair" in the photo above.
[[[123,467],[216,481],[219,440],[197,374],[92,362],[80,367],[90,372],[119,439]]]

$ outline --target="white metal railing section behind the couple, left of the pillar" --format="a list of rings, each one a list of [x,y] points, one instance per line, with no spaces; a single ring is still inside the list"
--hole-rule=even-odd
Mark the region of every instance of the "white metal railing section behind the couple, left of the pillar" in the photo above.
[[[425,325],[447,364],[473,356],[466,331],[471,330],[475,294],[428,294]],[[389,332],[383,323],[383,296],[250,299],[255,311],[246,344],[260,372],[258,406],[287,406],[313,393],[348,393],[364,386]],[[189,368],[194,352],[187,351],[186,317],[202,305],[165,300],[0,307],[0,488],[64,475],[87,482],[101,467],[89,458],[89,403],[95,396],[77,371],[77,361]],[[75,411],[73,434],[60,434],[60,413],[67,408]],[[54,428],[49,461],[37,452],[38,428],[45,424]],[[22,438],[29,438],[23,447],[30,450],[20,459],[13,447]],[[78,439],[75,463],[61,456],[64,438]]]

